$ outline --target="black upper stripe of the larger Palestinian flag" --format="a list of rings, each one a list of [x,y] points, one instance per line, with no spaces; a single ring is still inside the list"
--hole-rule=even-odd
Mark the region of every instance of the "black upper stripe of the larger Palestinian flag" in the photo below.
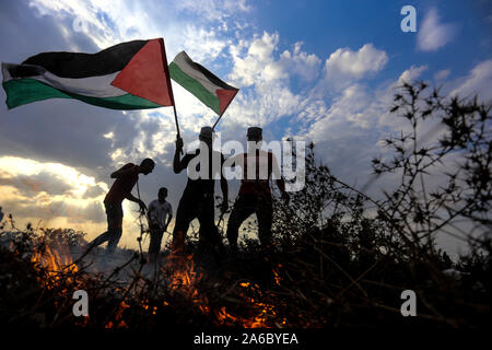
[[[62,78],[107,75],[120,71],[148,43],[133,40],[108,47],[96,54],[43,52],[27,58],[23,65],[35,65]]]

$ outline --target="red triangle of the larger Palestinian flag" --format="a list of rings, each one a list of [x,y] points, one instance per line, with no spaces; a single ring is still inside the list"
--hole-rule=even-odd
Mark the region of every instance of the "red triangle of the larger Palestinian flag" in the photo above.
[[[164,40],[149,40],[116,75],[112,85],[162,106],[174,105]]]

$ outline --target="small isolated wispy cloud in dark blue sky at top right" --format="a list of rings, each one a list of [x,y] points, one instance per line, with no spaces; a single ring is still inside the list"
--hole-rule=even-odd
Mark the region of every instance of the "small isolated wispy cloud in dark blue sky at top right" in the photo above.
[[[418,30],[417,44],[422,51],[435,51],[448,44],[456,33],[456,25],[440,23],[440,15],[435,8],[429,10]]]

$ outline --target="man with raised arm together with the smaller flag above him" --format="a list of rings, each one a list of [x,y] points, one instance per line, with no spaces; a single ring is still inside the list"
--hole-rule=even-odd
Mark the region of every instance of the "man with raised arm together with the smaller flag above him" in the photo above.
[[[222,255],[223,246],[220,234],[214,223],[213,186],[214,178],[220,177],[223,194],[222,211],[227,209],[227,182],[222,175],[224,156],[213,151],[213,128],[222,118],[238,89],[231,86],[210,72],[203,66],[194,62],[189,56],[181,51],[169,65],[171,78],[188,90],[204,105],[219,115],[213,127],[201,128],[199,140],[200,149],[186,154],[180,159],[183,139],[177,135],[176,152],[174,154],[174,172],[180,173],[190,164],[198,168],[188,168],[188,183],[176,213],[176,224],[173,232],[173,248],[178,252],[184,248],[186,233],[192,219],[198,218],[200,222],[200,243],[208,247],[214,247],[212,252]],[[203,154],[204,153],[204,154]],[[213,159],[220,160],[220,165],[213,166]],[[197,160],[200,160],[197,162]],[[199,167],[206,165],[207,172],[200,172]],[[192,166],[191,166],[192,167]],[[220,174],[214,174],[219,171]],[[199,178],[190,178],[190,172],[200,173]],[[204,175],[204,177],[203,177]],[[219,250],[219,252],[218,252]]]

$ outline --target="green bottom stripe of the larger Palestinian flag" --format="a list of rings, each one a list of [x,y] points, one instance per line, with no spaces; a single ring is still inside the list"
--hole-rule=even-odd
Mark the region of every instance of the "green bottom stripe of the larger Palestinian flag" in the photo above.
[[[162,107],[149,100],[126,94],[112,97],[84,96],[70,92],[65,92],[34,79],[19,79],[3,82],[7,92],[7,106],[14,108],[35,101],[48,98],[75,98],[91,105],[112,109],[142,109]]]

